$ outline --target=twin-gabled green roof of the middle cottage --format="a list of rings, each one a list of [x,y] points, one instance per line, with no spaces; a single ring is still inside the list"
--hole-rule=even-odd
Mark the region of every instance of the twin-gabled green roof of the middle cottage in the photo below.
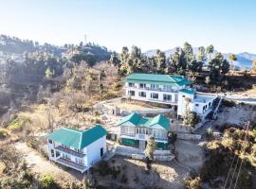
[[[163,129],[170,129],[170,120],[163,115],[157,115],[153,118],[143,117],[136,112],[133,112],[119,122],[119,125],[123,125],[127,122],[131,122],[135,127],[153,128],[155,125],[161,126]]]

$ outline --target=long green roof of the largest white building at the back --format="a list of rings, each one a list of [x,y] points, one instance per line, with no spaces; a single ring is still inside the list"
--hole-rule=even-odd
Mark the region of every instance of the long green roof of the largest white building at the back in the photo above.
[[[182,76],[155,75],[155,74],[132,74],[126,77],[127,82],[137,82],[146,84],[159,84],[171,86],[183,86],[191,82]]]

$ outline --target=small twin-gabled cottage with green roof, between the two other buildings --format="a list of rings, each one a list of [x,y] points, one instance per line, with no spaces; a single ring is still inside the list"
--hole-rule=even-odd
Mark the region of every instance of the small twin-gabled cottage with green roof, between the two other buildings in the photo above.
[[[122,145],[144,149],[149,136],[155,138],[156,146],[166,148],[171,122],[163,115],[143,117],[136,112],[125,116],[119,123],[119,138]]]

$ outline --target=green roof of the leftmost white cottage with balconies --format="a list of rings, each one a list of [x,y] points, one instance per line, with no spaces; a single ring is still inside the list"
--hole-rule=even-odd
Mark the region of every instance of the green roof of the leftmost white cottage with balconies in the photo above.
[[[96,125],[92,129],[78,130],[62,128],[53,131],[46,136],[47,139],[64,144],[65,146],[72,146],[76,149],[82,149],[85,146],[106,135],[106,130],[101,125]]]

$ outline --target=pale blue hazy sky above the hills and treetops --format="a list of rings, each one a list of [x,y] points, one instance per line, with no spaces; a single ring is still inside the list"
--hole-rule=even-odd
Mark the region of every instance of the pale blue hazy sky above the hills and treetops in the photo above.
[[[0,33],[39,43],[256,53],[256,0],[0,0]]]

